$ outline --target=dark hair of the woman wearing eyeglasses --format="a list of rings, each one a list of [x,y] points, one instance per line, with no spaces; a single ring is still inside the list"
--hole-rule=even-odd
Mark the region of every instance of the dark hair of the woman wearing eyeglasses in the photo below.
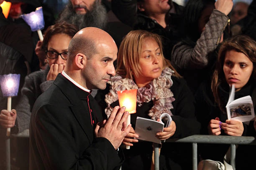
[[[53,35],[56,34],[67,34],[73,37],[77,33],[77,28],[75,25],[69,24],[67,22],[56,23],[47,28],[44,32],[44,40],[42,42],[42,50],[47,50],[48,42]]]

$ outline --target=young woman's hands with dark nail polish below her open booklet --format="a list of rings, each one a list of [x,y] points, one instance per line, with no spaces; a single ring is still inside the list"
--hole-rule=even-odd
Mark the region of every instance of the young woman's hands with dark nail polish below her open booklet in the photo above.
[[[242,136],[243,134],[243,122],[238,120],[226,120],[226,122],[220,122],[220,118],[210,120],[208,125],[208,133],[210,135],[220,135],[221,129],[224,133],[231,136]]]

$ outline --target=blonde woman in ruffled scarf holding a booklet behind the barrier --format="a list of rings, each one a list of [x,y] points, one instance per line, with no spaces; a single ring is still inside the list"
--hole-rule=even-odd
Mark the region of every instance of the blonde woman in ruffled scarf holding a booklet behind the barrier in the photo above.
[[[96,100],[109,115],[113,107],[119,105],[117,91],[138,89],[136,113],[131,114],[133,128],[123,140],[123,144],[131,146],[131,149],[124,150],[122,169],[150,169],[152,143],[134,139],[138,138],[134,130],[136,117],[159,120],[164,112],[171,115],[172,122],[163,132],[156,133],[157,138],[166,140],[161,148],[160,169],[190,169],[192,157],[184,153],[191,151],[191,146],[168,143],[167,139],[199,132],[194,98],[186,82],[164,58],[159,35],[144,30],[129,32],[119,48],[116,73],[108,82],[109,88],[105,93],[98,93]]]

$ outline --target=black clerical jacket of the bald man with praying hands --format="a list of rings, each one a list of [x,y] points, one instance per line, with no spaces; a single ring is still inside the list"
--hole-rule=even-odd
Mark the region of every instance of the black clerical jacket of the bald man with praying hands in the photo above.
[[[80,90],[80,91],[79,91]],[[100,107],[62,75],[36,100],[30,124],[30,170],[113,170],[123,161],[106,138],[95,138]],[[83,97],[83,100],[81,100]],[[118,167],[119,166],[119,167]]]

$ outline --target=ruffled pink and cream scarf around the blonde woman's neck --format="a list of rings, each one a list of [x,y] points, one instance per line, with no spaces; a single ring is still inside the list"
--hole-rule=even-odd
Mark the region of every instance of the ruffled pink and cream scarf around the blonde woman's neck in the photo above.
[[[172,73],[174,73],[174,71],[171,68],[166,67],[159,77],[141,88],[138,88],[136,83],[129,78],[122,78],[120,75],[111,77],[108,82],[111,85],[110,92],[105,95],[105,102],[108,105],[105,109],[106,115],[109,116],[113,110],[113,107],[111,107],[110,104],[118,100],[117,91],[131,89],[138,89],[137,103],[139,106],[141,106],[143,102],[147,103],[153,100],[154,106],[148,112],[151,119],[159,119],[160,115],[164,112],[172,115],[170,109],[173,109],[172,102],[175,100],[173,93],[170,90],[170,87],[173,84],[171,79]]]

